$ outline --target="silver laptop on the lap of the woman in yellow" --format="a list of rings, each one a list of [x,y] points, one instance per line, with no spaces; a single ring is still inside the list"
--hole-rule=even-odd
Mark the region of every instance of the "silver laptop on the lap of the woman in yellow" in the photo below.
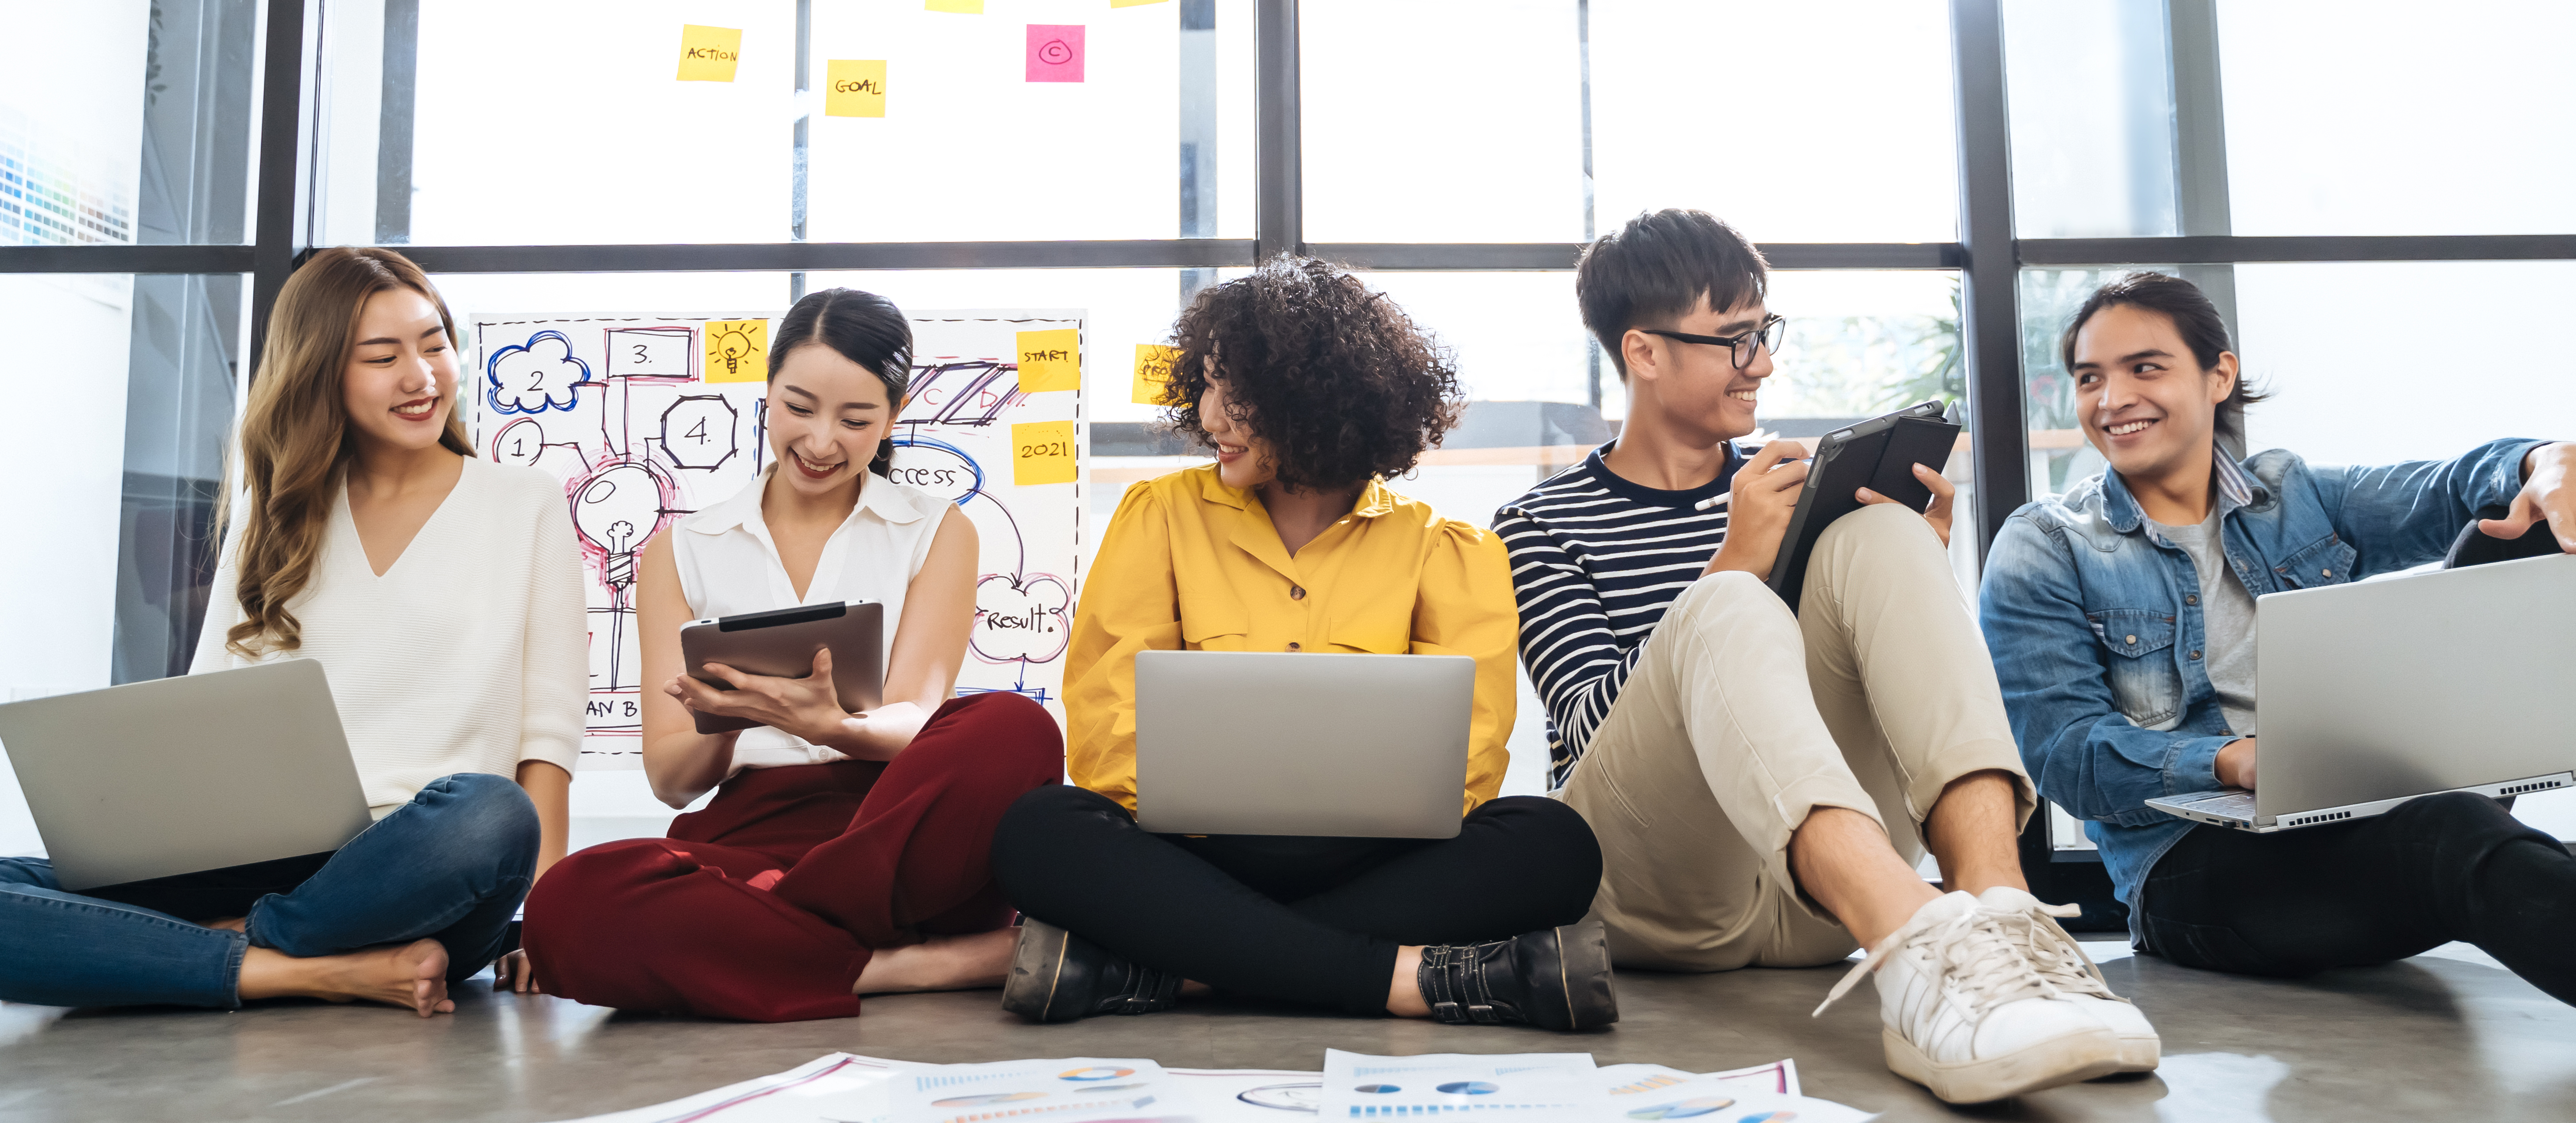
[[[1136,824],[1458,837],[1476,659],[1136,652]]]

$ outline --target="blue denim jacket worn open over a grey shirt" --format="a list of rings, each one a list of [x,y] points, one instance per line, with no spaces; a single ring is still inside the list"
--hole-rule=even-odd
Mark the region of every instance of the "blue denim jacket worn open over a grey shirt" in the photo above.
[[[2262,598],[2437,562],[2473,510],[2512,502],[2537,443],[2378,469],[2311,469],[2280,448],[2244,464],[2221,453],[2228,567]],[[2202,662],[2200,608],[2190,554],[2154,531],[2115,471],[2022,505],[1986,556],[1978,621],[2022,765],[2048,801],[2087,819],[2130,909],[2156,858],[2192,829],[2146,801],[2221,788],[2218,750],[2239,737]]]

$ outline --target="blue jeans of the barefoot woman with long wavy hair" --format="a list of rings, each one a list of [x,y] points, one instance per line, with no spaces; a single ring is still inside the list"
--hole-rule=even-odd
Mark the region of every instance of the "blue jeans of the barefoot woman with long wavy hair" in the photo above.
[[[260,896],[247,935],[67,894],[54,863],[0,858],[0,999],[232,1010],[252,945],[309,958],[420,938],[448,948],[456,984],[502,953],[536,840],[536,806],[507,775],[443,775],[294,891]]]

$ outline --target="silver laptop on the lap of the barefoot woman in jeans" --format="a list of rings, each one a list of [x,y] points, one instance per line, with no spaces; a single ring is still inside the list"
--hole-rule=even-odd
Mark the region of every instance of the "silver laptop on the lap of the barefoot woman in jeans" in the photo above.
[[[340,850],[374,822],[314,659],[0,706],[67,891]]]

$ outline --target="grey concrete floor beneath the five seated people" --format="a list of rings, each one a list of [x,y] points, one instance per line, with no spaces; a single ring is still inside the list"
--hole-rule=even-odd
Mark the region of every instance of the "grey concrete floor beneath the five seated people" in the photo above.
[[[912,1061],[1151,1056],[1203,1069],[1319,1069],[1365,1053],[1592,1051],[1710,1071],[1795,1056],[1806,1092],[1888,1120],[2576,1120],[2576,1010],[2476,948],[2308,981],[2228,979],[2089,945],[2156,1020],[2164,1069],[1968,1110],[1886,1071],[1862,986],[1839,976],[1620,974],[1600,1033],[1350,1020],[1252,1002],[1023,1025],[994,992],[868,999],[866,1017],[729,1025],[618,1015],[469,984],[456,1017],[281,1002],[245,1012],[59,1015],[0,1007],[0,1120],[562,1120],[677,1100],[829,1051]],[[2117,956],[2117,958],[2112,958]]]

